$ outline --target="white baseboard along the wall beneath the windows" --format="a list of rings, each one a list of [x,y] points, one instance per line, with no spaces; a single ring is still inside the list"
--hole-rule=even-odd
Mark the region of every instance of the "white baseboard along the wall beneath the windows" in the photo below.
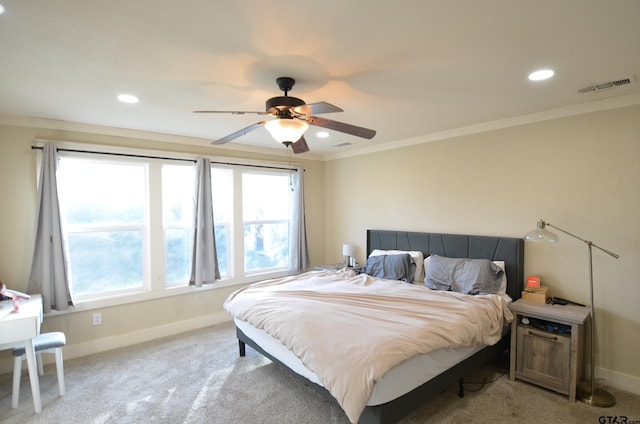
[[[91,340],[82,343],[67,344],[64,347],[64,359],[67,360],[80,358],[87,355],[93,355],[95,353],[131,346],[137,343],[147,342],[162,337],[173,336],[187,331],[221,324],[227,321],[231,321],[231,317],[226,311],[224,311],[217,314],[205,315],[186,321],[179,321],[167,325],[161,325],[158,327],[146,328],[134,333],[104,337],[102,339]],[[53,355],[43,355],[42,359],[45,364],[54,362]],[[10,355],[7,359],[0,360],[0,373],[4,374],[8,372],[13,372],[13,356]]]

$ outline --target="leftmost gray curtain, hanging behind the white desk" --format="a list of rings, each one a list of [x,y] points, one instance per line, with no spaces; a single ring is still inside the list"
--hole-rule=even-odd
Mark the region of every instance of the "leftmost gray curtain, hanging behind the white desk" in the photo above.
[[[58,203],[58,151],[54,144],[42,149],[38,222],[28,293],[41,293],[44,312],[73,306],[67,271],[66,249]]]

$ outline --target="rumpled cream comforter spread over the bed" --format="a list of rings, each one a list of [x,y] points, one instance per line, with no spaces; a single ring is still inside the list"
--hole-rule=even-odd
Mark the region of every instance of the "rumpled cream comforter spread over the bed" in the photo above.
[[[346,270],[255,283],[224,307],[295,353],[353,423],[390,369],[437,349],[493,345],[513,319],[497,295],[432,291]]]

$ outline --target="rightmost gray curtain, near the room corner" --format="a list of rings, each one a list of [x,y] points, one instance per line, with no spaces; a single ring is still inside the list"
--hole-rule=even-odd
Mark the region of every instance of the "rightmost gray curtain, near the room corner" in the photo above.
[[[289,273],[304,272],[310,265],[307,247],[307,223],[304,213],[304,169],[291,173],[292,225],[289,228]]]

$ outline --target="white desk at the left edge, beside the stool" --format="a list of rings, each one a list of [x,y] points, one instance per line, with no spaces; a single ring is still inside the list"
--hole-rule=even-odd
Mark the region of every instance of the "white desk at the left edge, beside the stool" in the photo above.
[[[38,381],[38,367],[36,365],[36,352],[33,350],[33,338],[40,334],[42,324],[42,297],[32,295],[31,299],[21,299],[20,312],[10,313],[13,310],[13,302],[0,302],[0,350],[14,347],[25,348],[27,367],[29,368],[29,381],[31,382],[31,394],[33,407],[37,413],[42,410],[40,402],[40,383]]]

